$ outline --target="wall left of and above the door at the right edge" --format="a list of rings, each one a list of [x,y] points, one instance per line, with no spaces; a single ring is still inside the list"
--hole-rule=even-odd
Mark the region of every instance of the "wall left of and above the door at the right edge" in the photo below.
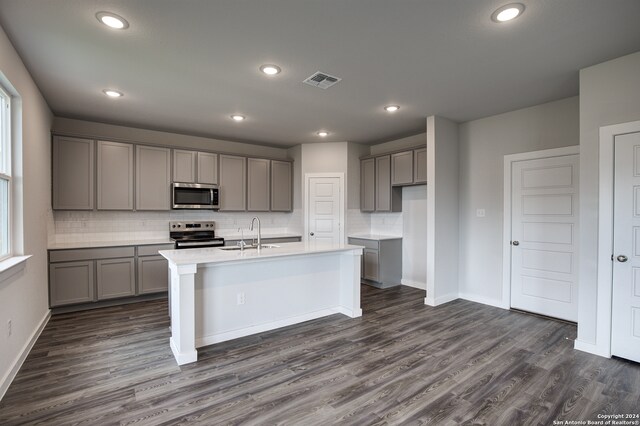
[[[597,309],[599,129],[640,120],[640,52],[580,71],[580,290],[578,342],[581,349],[608,349],[610,318]],[[606,352],[606,351],[604,351]]]

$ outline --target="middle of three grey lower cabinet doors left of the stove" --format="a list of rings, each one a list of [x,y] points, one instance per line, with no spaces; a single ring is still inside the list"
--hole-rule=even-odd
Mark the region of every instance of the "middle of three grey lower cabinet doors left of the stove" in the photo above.
[[[96,261],[98,300],[136,294],[134,258]]]

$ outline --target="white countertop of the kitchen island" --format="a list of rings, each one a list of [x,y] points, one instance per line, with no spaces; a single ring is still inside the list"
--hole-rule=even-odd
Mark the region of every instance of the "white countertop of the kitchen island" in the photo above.
[[[326,244],[316,242],[283,243],[278,247],[263,248],[260,252],[256,249],[224,250],[221,248],[202,248],[189,250],[161,250],[159,253],[170,263],[176,265],[192,265],[204,263],[225,263],[251,261],[266,258],[299,256],[305,254],[330,253],[341,251],[359,250],[362,247],[349,244]]]

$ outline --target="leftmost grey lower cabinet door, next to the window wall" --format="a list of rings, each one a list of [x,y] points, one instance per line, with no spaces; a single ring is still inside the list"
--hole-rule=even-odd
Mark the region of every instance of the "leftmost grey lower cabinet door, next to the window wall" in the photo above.
[[[52,308],[93,300],[92,260],[49,265],[49,304]]]

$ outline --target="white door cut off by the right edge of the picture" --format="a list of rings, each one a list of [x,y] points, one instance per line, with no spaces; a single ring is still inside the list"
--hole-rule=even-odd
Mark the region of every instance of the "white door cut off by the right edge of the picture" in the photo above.
[[[615,137],[611,354],[640,362],[640,133]]]

